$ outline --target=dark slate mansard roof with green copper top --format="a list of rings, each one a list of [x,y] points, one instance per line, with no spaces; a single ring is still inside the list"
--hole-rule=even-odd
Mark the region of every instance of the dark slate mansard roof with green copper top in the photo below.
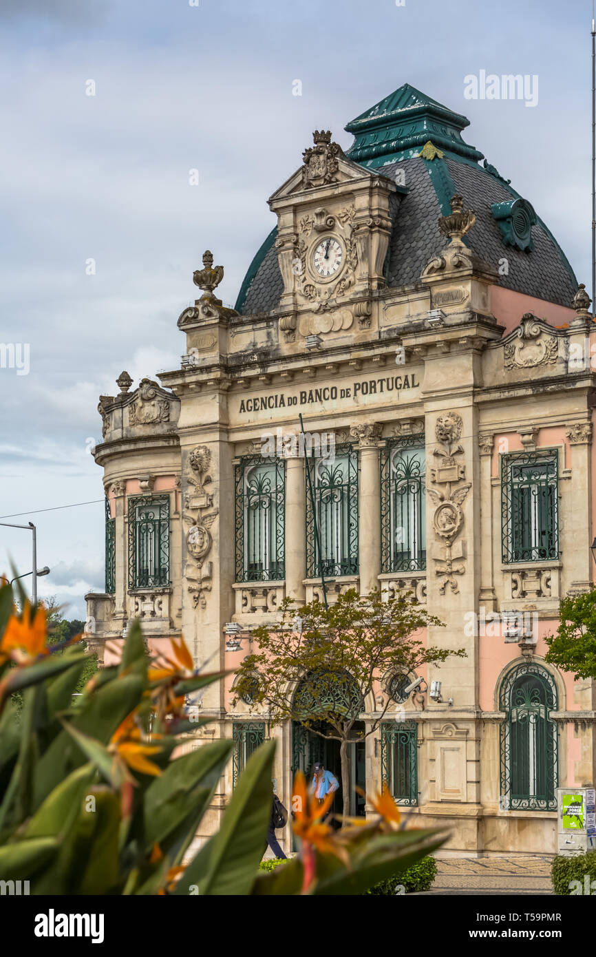
[[[507,258],[509,273],[498,284],[537,299],[571,306],[577,280],[554,236],[541,219],[532,227],[531,252],[505,245],[493,203],[519,198],[474,146],[461,138],[470,124],[466,117],[405,83],[385,100],[366,110],[345,129],[354,134],[347,156],[367,169],[376,168],[391,179],[403,170],[406,195],[393,202],[393,230],[386,260],[388,286],[417,282],[427,262],[447,240],[437,221],[451,212],[455,193],[464,197],[465,209],[476,213],[475,227],[466,235],[470,249],[497,266]],[[433,159],[420,156],[431,142],[442,152]],[[243,315],[267,312],[279,302],[283,283],[275,249],[276,229],[254,256],[242,283],[235,308]]]

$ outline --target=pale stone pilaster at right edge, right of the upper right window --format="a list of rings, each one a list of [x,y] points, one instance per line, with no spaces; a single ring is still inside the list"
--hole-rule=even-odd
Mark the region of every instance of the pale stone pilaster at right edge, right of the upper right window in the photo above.
[[[589,591],[592,588],[592,481],[591,481],[591,422],[570,426],[565,434],[571,444],[571,496],[569,528],[573,529],[574,547],[565,556],[565,571],[571,578],[570,591]],[[563,463],[564,467],[564,463]],[[561,525],[561,517],[559,518]],[[561,530],[559,534],[561,540]]]

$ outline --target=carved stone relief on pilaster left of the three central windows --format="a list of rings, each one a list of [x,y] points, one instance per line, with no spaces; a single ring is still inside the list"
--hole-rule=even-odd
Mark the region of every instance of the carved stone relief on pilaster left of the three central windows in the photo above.
[[[210,450],[206,445],[197,445],[188,456],[188,492],[185,494],[183,521],[188,525],[187,562],[184,577],[192,595],[193,607],[207,606],[207,594],[211,590],[213,564],[207,561],[213,539],[210,529],[219,510],[212,508],[213,496],[205,486],[211,481]]]

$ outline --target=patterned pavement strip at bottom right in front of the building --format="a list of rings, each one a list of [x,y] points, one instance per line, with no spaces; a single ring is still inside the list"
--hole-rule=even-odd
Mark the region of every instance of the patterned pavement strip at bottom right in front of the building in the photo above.
[[[437,857],[436,878],[424,894],[552,894],[551,860],[541,856]]]

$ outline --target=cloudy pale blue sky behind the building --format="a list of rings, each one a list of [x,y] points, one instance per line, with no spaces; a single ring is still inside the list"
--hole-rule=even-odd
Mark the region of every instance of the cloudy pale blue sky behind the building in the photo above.
[[[101,499],[99,393],[178,366],[207,247],[233,303],[313,129],[349,146],[408,81],[470,119],[589,286],[590,19],[580,0],[2,0],[0,341],[31,368],[0,368],[0,512],[37,523],[41,593],[82,616],[102,589],[101,504],[33,514]],[[466,100],[480,70],[537,75],[538,104]],[[30,540],[0,527],[0,568],[31,568]]]

